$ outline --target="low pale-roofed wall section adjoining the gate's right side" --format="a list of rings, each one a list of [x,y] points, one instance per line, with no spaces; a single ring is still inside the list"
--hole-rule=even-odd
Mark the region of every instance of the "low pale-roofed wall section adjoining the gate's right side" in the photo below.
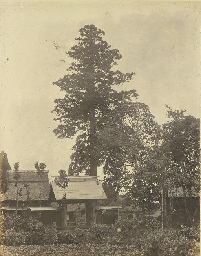
[[[96,223],[112,225],[117,222],[121,206],[95,206]]]

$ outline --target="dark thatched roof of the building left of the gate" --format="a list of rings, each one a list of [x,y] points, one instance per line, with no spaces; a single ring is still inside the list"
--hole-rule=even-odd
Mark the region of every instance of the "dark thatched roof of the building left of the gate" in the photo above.
[[[36,170],[20,170],[19,171],[20,178],[18,180],[18,188],[22,188],[22,200],[27,200],[26,189],[24,187],[24,182],[29,184],[29,191],[30,197],[33,201],[39,201],[40,195],[40,176],[37,174]],[[14,179],[15,171],[9,170],[7,171],[7,183],[8,189],[7,192],[4,194],[4,201],[5,200],[16,200],[16,187],[15,183],[16,180]],[[48,200],[49,199],[49,179],[48,179],[48,170],[42,176],[42,195],[41,200]],[[18,200],[21,200],[18,196]]]

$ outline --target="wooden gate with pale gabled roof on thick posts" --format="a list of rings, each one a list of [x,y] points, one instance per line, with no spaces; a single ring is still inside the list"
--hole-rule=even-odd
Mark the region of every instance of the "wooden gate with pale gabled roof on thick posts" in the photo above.
[[[64,203],[64,191],[57,185],[58,177],[51,182],[49,200],[57,202],[62,207],[62,228],[66,229],[69,216]],[[97,176],[68,176],[68,187],[66,188],[66,199],[68,204],[85,204],[86,226],[96,223],[95,206],[98,199],[107,199],[102,184]]]

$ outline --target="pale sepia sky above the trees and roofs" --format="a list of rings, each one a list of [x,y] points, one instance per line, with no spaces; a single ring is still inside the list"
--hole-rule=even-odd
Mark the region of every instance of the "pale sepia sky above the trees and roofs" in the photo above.
[[[137,74],[117,90],[136,89],[159,124],[168,120],[165,104],[199,118],[200,2],[1,1],[0,151],[12,168],[44,162],[50,179],[68,170],[75,138],[53,134],[53,101],[64,92],[52,83],[67,73],[65,52],[86,24],[119,49],[120,71]]]

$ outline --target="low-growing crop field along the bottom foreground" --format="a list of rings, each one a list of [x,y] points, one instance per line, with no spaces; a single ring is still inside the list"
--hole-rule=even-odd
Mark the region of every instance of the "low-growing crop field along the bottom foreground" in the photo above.
[[[131,246],[116,245],[22,245],[0,246],[0,256],[141,256]]]

